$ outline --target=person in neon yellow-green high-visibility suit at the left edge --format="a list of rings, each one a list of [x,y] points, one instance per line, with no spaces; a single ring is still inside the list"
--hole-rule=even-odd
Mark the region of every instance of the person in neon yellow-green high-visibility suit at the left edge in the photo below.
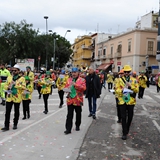
[[[0,84],[0,96],[2,98],[2,105],[5,105],[5,92],[4,92],[4,85],[7,80],[7,77],[10,76],[10,71],[5,68],[5,64],[1,63],[0,66],[0,79],[1,79],[1,84]]]

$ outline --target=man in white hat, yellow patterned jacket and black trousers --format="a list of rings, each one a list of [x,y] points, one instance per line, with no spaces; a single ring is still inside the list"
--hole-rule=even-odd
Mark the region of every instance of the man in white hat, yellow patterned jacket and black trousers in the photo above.
[[[22,93],[26,88],[24,77],[19,76],[20,67],[15,64],[12,68],[12,75],[7,77],[7,81],[4,85],[4,89],[7,92],[6,96],[6,112],[5,112],[5,122],[2,131],[9,130],[10,124],[10,114],[12,106],[14,105],[14,119],[13,119],[13,129],[17,129],[19,120],[19,108],[22,101]]]

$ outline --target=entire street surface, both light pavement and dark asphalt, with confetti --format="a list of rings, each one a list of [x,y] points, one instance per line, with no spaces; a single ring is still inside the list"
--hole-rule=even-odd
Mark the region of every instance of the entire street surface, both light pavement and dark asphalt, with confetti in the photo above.
[[[49,97],[49,113],[43,114],[43,100],[33,93],[31,118],[22,120],[18,129],[0,131],[0,160],[159,160],[160,159],[160,93],[156,87],[145,90],[137,99],[128,139],[123,141],[121,124],[117,123],[115,97],[103,89],[98,99],[97,119],[88,117],[84,99],[80,131],[65,135],[66,105],[61,109],[57,89]],[[13,109],[12,109],[13,110]],[[0,127],[5,107],[0,106]],[[73,124],[75,119],[73,121]]]

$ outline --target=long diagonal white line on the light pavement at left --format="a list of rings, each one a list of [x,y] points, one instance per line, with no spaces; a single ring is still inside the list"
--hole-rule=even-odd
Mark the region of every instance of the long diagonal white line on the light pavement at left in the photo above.
[[[58,112],[60,112],[60,111],[63,110],[63,109],[66,109],[66,108],[61,108],[61,109],[59,109],[58,111],[56,111],[56,112],[48,115],[47,117],[45,117],[45,118],[43,118],[43,119],[41,119],[41,120],[39,120],[39,121],[36,121],[35,123],[32,123],[31,125],[23,128],[23,129],[20,130],[20,131],[17,131],[16,133],[13,133],[11,136],[8,136],[8,137],[0,140],[0,144],[8,141],[9,139],[12,139],[13,137],[15,137],[15,136],[19,135],[20,133],[22,133],[22,132],[26,131],[27,129],[29,129],[30,127],[33,127],[33,126],[37,125],[38,123],[40,123],[40,122],[42,122],[42,121],[50,118],[51,116],[53,116],[54,114],[57,114]]]

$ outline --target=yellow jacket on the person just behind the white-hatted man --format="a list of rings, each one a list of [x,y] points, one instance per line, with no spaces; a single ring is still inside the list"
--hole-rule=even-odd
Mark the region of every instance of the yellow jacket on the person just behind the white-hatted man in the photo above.
[[[28,91],[28,93],[26,93],[26,91]],[[33,92],[33,84],[32,83],[26,84],[26,89],[22,93],[22,100],[31,99],[32,92]]]

